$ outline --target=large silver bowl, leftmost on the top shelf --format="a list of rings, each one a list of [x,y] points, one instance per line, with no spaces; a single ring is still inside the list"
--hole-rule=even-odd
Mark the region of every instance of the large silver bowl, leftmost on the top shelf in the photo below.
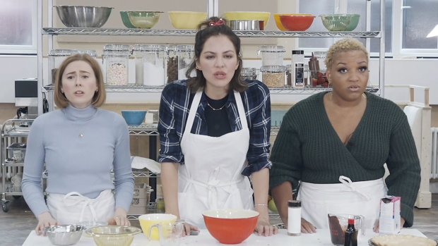
[[[102,27],[107,23],[112,8],[93,6],[54,6],[66,27]]]

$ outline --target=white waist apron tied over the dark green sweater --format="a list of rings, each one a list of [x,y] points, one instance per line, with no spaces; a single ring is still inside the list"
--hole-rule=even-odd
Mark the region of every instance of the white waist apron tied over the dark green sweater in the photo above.
[[[316,229],[328,229],[327,214],[354,214],[365,216],[365,228],[372,229],[379,219],[380,199],[387,189],[383,178],[351,182],[340,176],[340,184],[301,182],[297,199],[302,201],[302,218]]]

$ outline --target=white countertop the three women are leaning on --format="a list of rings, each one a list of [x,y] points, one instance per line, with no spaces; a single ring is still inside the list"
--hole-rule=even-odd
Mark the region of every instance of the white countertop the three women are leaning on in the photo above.
[[[415,229],[403,229],[401,234],[406,235],[416,235],[420,237],[425,237],[419,230]],[[359,235],[359,245],[367,246],[368,240],[378,235],[372,232],[372,230],[367,230],[365,236]],[[32,230],[25,240],[23,246],[52,246],[49,238],[38,236],[35,234],[35,230]],[[150,241],[146,239],[146,235],[143,233],[137,234],[134,237],[134,241],[131,246],[160,246],[158,241]],[[201,230],[199,235],[192,235],[187,238],[183,238],[181,245],[199,245],[199,246],[211,246],[211,245],[222,245],[218,240],[215,240],[208,230]],[[258,235],[252,234],[247,240],[239,245],[245,246],[276,246],[276,245],[288,245],[288,246],[324,246],[333,245],[330,240],[329,230],[318,230],[314,234],[302,234],[297,237],[288,236],[287,230],[280,230],[277,235],[272,237],[260,237]],[[81,240],[76,244],[76,246],[95,246],[93,238],[87,238],[82,236]]]

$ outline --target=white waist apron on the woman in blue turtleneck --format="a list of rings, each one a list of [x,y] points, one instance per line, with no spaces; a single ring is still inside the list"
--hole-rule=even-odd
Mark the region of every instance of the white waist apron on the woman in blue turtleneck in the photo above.
[[[82,221],[108,221],[114,216],[115,200],[111,190],[104,190],[95,199],[78,192],[67,195],[47,195],[47,207],[59,225],[74,225]]]

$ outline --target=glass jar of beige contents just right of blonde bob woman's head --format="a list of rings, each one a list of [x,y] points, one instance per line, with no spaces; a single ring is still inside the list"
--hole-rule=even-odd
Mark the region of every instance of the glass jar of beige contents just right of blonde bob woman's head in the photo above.
[[[106,59],[107,85],[128,85],[129,48],[128,44],[105,44],[102,62]]]

